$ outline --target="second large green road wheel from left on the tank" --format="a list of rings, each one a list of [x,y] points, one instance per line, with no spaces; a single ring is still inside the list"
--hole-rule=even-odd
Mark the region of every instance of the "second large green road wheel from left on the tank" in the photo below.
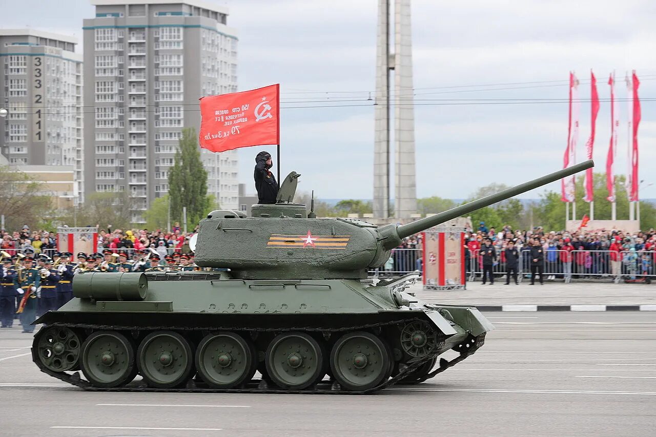
[[[174,388],[189,381],[194,354],[188,341],[173,331],[150,333],[136,352],[139,373],[148,386]]]

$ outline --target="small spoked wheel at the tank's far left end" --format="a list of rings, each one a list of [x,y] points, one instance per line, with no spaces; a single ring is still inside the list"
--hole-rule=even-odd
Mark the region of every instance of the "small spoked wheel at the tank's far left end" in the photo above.
[[[77,367],[81,344],[72,329],[46,326],[37,333],[32,346],[43,367],[50,371],[63,372]]]

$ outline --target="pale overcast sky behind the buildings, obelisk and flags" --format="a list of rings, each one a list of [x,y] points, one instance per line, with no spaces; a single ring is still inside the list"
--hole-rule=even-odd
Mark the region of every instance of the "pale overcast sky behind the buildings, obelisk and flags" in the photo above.
[[[228,24],[239,33],[240,91],[281,84],[282,173],[302,173],[300,189],[314,189],[319,198],[371,198],[374,119],[367,97],[375,87],[377,1],[217,3],[230,8]],[[3,1],[0,26],[81,37],[83,18],[93,16],[87,0]],[[588,99],[592,68],[602,98],[597,171],[604,171],[610,135],[603,101],[608,75],[616,72],[616,94],[626,98],[625,72],[635,69],[646,99],[640,178],[653,183],[641,197],[656,198],[656,100],[647,100],[656,98],[655,16],[656,2],[648,0],[413,0],[417,196],[465,198],[490,182],[518,184],[560,169],[568,72],[577,73],[581,97]],[[618,174],[626,173],[626,105],[619,104]],[[579,161],[589,133],[584,102]],[[259,150],[239,151],[241,182],[252,184]],[[560,190],[560,184],[549,188]]]

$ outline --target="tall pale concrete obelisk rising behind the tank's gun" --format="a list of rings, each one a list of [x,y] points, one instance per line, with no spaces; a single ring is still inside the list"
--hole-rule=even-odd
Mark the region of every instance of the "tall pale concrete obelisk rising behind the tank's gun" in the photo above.
[[[394,217],[409,218],[417,211],[410,0],[394,1],[394,53],[390,46],[390,0],[379,0],[373,213],[377,218],[388,218],[390,213],[390,73],[394,70]]]

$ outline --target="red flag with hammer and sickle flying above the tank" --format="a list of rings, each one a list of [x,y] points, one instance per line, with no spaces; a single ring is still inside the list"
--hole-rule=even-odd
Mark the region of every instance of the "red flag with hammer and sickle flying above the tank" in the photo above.
[[[279,84],[201,98],[202,148],[224,152],[280,144]]]

